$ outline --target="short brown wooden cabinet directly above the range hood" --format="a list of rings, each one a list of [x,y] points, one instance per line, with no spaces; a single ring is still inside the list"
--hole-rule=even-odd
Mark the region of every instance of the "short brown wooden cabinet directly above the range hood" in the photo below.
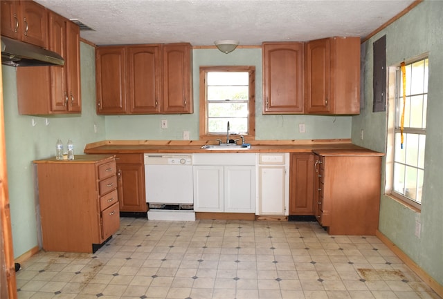
[[[1,1],[1,35],[46,48],[46,8],[34,1]]]

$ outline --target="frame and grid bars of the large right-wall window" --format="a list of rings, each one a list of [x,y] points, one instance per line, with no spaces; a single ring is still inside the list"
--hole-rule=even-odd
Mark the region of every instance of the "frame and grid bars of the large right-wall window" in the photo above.
[[[414,64],[417,61],[422,61],[428,58],[428,54],[420,55],[419,57],[415,57],[414,59],[409,59],[408,61],[405,61],[406,66],[410,64]],[[414,209],[415,211],[421,211],[422,204],[423,204],[423,197],[421,198],[421,202],[416,202],[415,200],[410,199],[409,197],[406,197],[405,195],[395,191],[394,189],[394,168],[395,168],[395,135],[399,133],[399,128],[397,126],[399,122],[399,117],[401,113],[399,112],[401,106],[397,105],[397,101],[402,100],[402,96],[400,95],[401,88],[401,70],[400,66],[390,66],[388,68],[388,134],[387,134],[387,151],[386,151],[386,186],[385,186],[385,193],[386,195],[389,195],[390,197],[394,198],[395,200],[405,204],[406,206],[409,206],[410,208]],[[428,95],[428,90],[426,93],[426,96]],[[411,95],[406,95],[411,96]],[[413,95],[412,95],[413,96]],[[426,113],[427,115],[427,105],[426,105]],[[427,117],[426,117],[427,118]],[[412,134],[422,134],[426,137],[426,126],[425,128],[413,128],[413,127],[407,127],[404,126],[404,133],[412,133]],[[406,148],[405,148],[406,150]],[[426,157],[426,144],[424,146],[424,155]],[[419,166],[416,167],[417,169],[420,169]],[[426,169],[423,166],[423,171],[425,173]],[[424,188],[425,182],[423,182],[423,188]]]

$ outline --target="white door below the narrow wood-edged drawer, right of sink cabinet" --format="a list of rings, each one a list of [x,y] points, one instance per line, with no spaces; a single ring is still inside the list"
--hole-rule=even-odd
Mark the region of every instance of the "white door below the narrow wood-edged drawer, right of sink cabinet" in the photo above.
[[[259,215],[285,215],[285,166],[260,166]]]

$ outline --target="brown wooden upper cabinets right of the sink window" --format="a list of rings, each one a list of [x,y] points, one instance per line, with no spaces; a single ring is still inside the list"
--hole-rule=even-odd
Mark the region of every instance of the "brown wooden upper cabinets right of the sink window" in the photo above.
[[[262,44],[263,114],[360,113],[360,38]]]

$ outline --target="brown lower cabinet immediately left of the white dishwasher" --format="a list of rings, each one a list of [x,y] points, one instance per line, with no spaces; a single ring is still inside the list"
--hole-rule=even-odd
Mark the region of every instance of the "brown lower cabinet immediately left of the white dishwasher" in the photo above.
[[[116,154],[120,212],[147,212],[144,155]]]

